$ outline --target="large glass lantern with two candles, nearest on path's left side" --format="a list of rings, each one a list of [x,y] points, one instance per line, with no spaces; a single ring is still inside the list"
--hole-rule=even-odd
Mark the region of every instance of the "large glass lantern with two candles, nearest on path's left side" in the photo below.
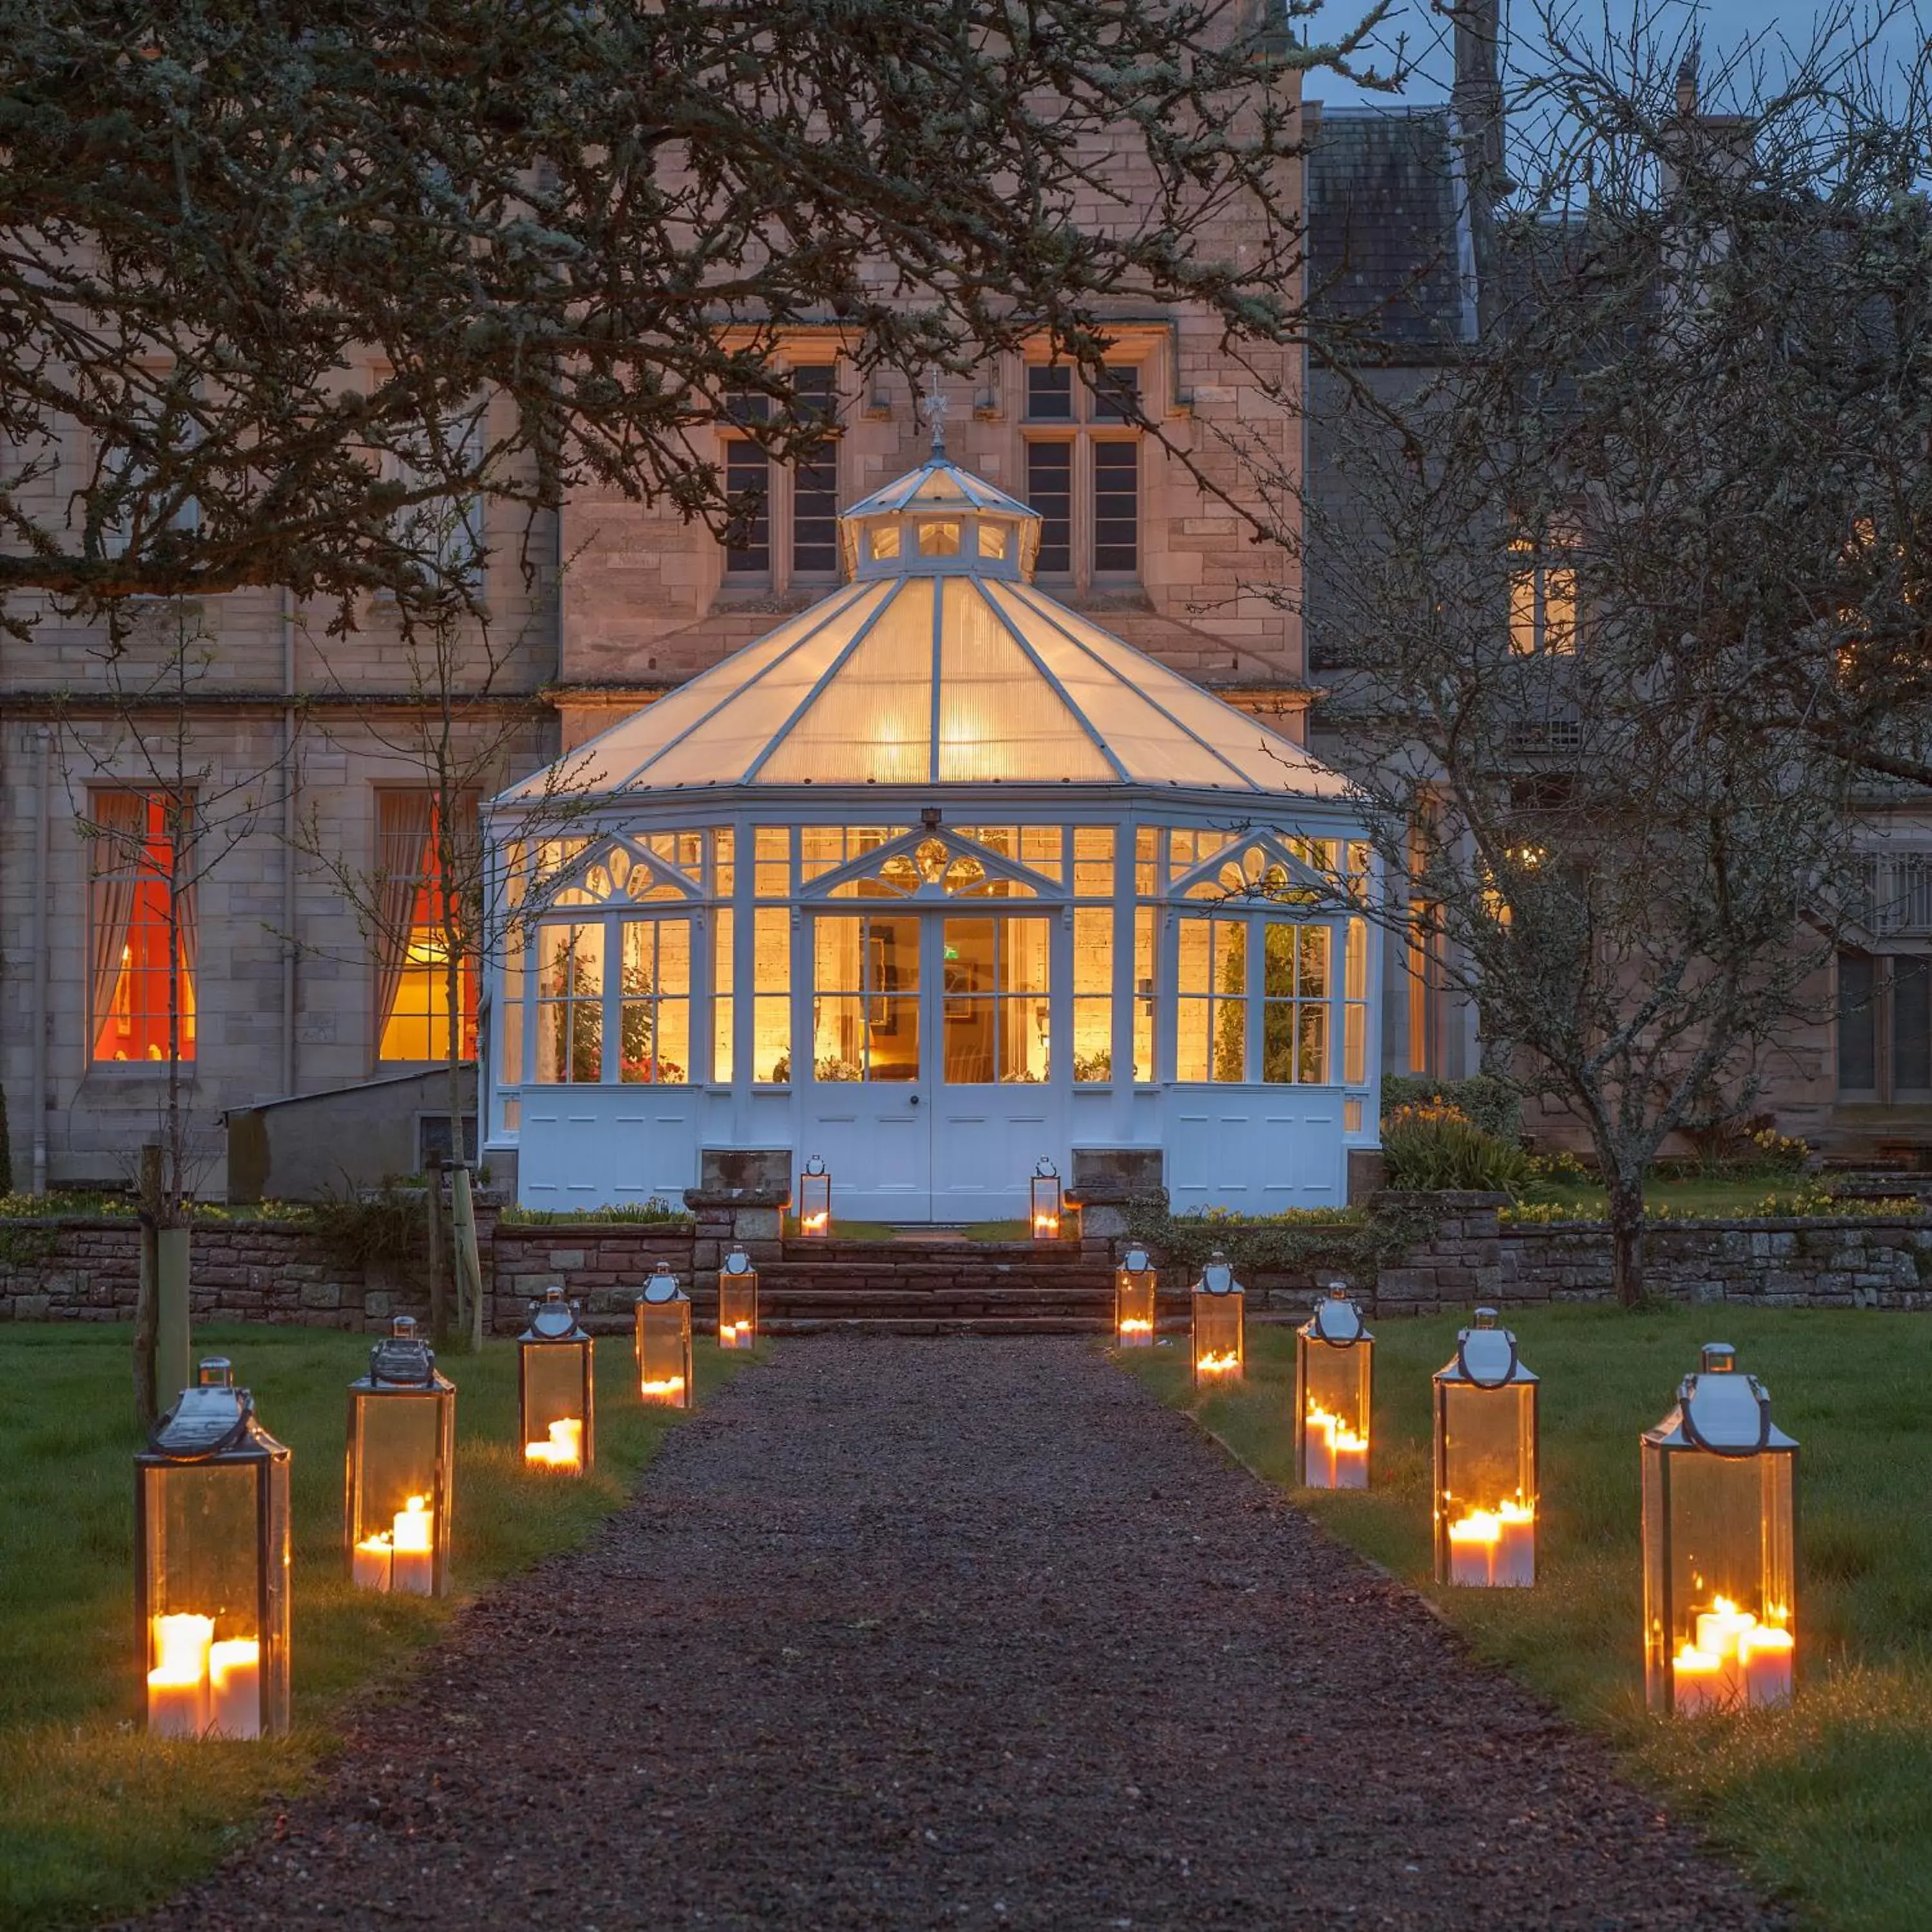
[[[288,1464],[218,1356],[133,1459],[135,1615],[155,1737],[288,1729]]]

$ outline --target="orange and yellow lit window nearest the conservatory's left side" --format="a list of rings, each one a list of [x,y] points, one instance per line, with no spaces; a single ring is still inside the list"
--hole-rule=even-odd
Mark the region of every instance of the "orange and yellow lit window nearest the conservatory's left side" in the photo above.
[[[462,808],[468,825],[469,810]],[[429,792],[377,792],[377,1059],[440,1061],[450,1039],[448,900]],[[477,1051],[477,976],[456,962],[460,1055]]]

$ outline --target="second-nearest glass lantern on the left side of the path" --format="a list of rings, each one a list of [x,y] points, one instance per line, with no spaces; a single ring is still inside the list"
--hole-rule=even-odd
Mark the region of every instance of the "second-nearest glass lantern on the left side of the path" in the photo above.
[[[450,1578],[456,1385],[413,1316],[396,1316],[350,1383],[342,1559],[357,1590],[442,1596]]]

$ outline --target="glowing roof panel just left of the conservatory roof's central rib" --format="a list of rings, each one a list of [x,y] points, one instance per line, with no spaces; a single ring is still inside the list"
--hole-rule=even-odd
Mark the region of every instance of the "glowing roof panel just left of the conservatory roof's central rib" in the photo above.
[[[898,583],[866,641],[773,746],[761,773],[767,784],[929,781],[935,587],[920,578]]]

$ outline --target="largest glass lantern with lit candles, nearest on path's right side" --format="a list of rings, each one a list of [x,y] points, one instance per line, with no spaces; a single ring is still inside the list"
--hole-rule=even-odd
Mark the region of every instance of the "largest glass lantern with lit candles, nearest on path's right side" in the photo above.
[[[1783,1704],[1797,1662],[1799,1445],[1729,1343],[1644,1430],[1644,1692],[1692,1716]]]

